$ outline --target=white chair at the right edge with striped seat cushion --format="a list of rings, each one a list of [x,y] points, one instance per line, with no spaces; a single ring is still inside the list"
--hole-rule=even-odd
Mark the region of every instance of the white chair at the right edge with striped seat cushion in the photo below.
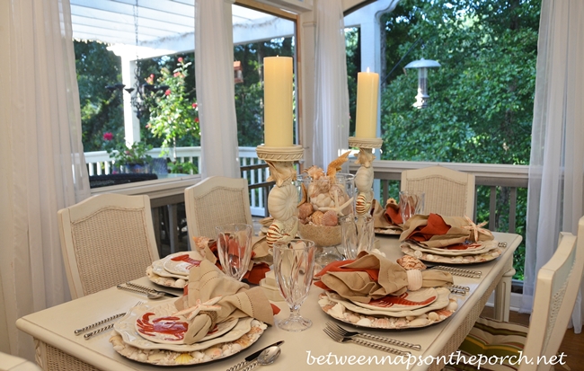
[[[483,355],[516,356],[519,352],[533,363],[520,365],[482,365],[487,371],[550,371],[553,366],[537,358],[553,359],[556,356],[568,327],[580,289],[584,269],[584,217],[578,225],[578,238],[562,233],[557,250],[550,261],[537,272],[533,312],[529,327],[517,323],[479,318],[459,347],[466,358]],[[494,358],[493,358],[494,359]],[[508,358],[509,359],[509,358]],[[555,358],[556,362],[558,361]],[[564,358],[564,361],[570,360]],[[494,363],[494,362],[493,362]],[[478,365],[448,366],[445,370],[473,370]],[[580,369],[580,368],[578,368]]]

